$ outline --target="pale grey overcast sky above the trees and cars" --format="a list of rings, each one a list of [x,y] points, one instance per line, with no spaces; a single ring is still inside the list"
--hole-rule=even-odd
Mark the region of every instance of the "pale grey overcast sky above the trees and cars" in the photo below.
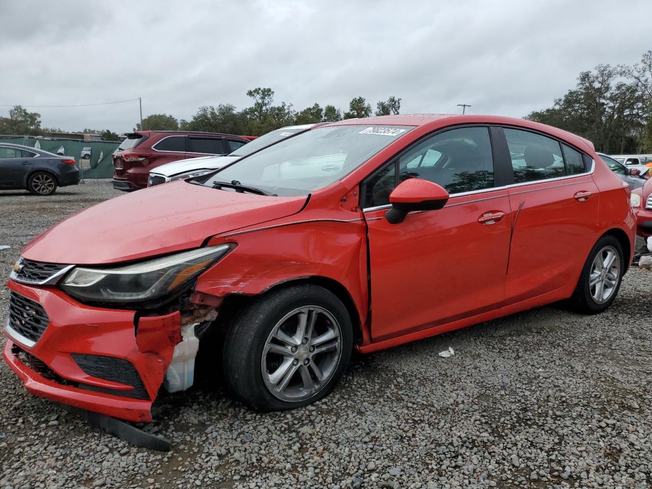
[[[143,117],[274,102],[523,117],[600,63],[652,49],[652,1],[0,0],[0,104],[143,99]],[[0,115],[9,107],[0,106]],[[131,130],[138,102],[29,108],[63,130]]]

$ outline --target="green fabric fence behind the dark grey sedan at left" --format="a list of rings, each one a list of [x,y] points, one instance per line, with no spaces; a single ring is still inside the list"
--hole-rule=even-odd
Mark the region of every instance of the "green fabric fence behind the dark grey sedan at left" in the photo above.
[[[63,147],[63,154],[75,158],[76,166],[82,171],[84,178],[111,178],[113,177],[113,152],[120,145],[112,141],[82,141],[55,138],[33,138],[31,136],[5,138],[0,136],[5,143],[22,144],[40,148],[50,153],[59,153]],[[85,153],[82,158],[82,151]],[[87,155],[87,153],[90,153]]]

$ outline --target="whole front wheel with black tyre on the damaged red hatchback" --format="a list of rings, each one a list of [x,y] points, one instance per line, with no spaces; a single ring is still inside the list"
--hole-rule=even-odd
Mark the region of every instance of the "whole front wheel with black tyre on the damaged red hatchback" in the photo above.
[[[228,387],[258,411],[299,408],[327,396],[353,348],[351,318],[325,288],[262,295],[234,318],[222,362]]]

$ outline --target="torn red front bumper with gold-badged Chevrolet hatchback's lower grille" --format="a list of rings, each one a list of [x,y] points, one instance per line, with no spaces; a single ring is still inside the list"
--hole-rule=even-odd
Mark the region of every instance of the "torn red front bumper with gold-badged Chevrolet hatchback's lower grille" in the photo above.
[[[78,303],[55,288],[12,280],[8,287],[13,321],[7,319],[3,356],[29,392],[128,421],[152,420],[175,346],[185,341],[178,311],[138,317]]]

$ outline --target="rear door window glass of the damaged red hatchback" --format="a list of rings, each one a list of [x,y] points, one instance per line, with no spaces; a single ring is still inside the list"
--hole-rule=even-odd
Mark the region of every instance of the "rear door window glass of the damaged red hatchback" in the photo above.
[[[561,146],[556,140],[534,132],[508,128],[505,128],[505,138],[512,158],[514,183],[566,175]]]

